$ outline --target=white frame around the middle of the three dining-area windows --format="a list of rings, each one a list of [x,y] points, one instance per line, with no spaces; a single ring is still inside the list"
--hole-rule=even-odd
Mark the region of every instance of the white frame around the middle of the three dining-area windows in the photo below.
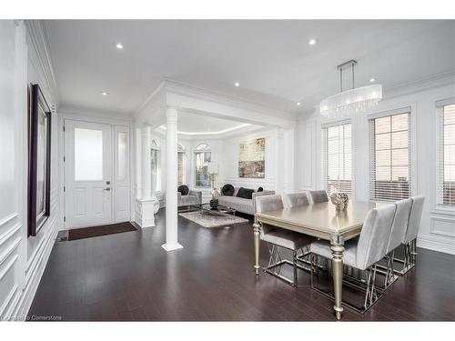
[[[416,155],[415,155],[415,121],[414,121],[414,107],[413,105],[408,105],[408,106],[403,106],[398,109],[391,109],[387,111],[383,111],[380,113],[372,114],[368,116],[369,120],[369,200],[371,201],[376,201],[376,202],[393,202],[395,200],[390,199],[377,199],[376,197],[373,197],[373,181],[374,181],[374,138],[375,135],[372,132],[372,122],[376,118],[381,118],[381,117],[388,117],[388,116],[393,116],[393,115],[402,115],[402,114],[408,114],[408,183],[409,183],[409,197],[413,196],[415,192],[415,186],[416,186],[416,181],[417,181],[417,176],[416,176],[416,166],[415,166],[415,161],[416,160]]]

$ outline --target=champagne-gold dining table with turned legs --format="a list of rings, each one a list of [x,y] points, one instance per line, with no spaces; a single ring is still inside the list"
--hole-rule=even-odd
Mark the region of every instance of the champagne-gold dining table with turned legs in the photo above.
[[[350,201],[346,210],[340,211],[331,202],[307,206],[281,208],[255,215],[253,224],[255,247],[255,271],[259,275],[260,229],[263,225],[276,226],[319,239],[328,240],[332,253],[332,276],[336,318],[342,317],[343,252],[345,242],[360,235],[369,210],[378,206],[375,202]]]

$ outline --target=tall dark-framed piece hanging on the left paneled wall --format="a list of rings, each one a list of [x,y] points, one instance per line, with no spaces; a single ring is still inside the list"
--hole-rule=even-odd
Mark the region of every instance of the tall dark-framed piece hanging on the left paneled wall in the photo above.
[[[39,85],[29,87],[28,236],[36,236],[50,216],[51,109]]]

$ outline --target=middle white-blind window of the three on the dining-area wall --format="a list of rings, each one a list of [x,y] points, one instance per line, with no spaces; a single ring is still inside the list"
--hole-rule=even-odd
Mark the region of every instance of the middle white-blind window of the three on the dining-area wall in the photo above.
[[[372,118],[369,126],[370,199],[410,197],[410,111]]]

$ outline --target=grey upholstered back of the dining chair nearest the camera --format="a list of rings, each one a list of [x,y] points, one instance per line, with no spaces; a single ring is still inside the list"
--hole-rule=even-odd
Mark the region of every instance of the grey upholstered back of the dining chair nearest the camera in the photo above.
[[[365,218],[357,245],[356,264],[365,270],[386,256],[395,204],[373,208]]]

